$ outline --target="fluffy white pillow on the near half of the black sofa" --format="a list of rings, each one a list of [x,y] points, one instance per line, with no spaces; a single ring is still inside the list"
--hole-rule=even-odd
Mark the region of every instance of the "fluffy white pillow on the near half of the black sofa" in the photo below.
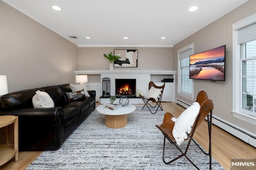
[[[44,91],[36,91],[36,94],[32,98],[34,108],[40,107],[54,107],[54,102],[48,93]]]

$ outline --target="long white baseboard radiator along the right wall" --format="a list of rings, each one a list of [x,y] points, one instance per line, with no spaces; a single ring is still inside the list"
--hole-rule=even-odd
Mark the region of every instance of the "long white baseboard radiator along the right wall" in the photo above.
[[[176,103],[178,105],[181,105],[184,108],[190,107],[190,104],[180,100],[176,99]],[[256,147],[256,135],[250,134],[250,132],[246,132],[246,130],[243,130],[241,128],[236,127],[235,125],[232,125],[231,123],[228,123],[218,117],[212,116],[212,124],[222,128],[223,130],[229,132],[230,134],[236,136],[237,138],[240,138],[244,142]]]

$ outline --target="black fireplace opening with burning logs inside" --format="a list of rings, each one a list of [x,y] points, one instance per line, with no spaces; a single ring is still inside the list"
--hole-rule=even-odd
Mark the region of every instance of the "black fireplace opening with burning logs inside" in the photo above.
[[[136,96],[136,79],[116,79],[116,96]]]

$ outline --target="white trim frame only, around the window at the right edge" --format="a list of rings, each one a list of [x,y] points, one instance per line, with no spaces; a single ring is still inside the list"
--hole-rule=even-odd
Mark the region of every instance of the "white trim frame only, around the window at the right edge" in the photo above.
[[[256,117],[240,110],[242,109],[242,59],[240,59],[241,49],[240,44],[238,44],[238,30],[254,23],[256,23],[256,14],[233,24],[233,101],[231,110],[233,117],[253,125],[256,124]]]

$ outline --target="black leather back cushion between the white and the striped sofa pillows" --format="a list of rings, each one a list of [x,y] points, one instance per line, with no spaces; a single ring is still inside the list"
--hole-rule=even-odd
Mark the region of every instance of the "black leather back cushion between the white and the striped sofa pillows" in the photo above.
[[[50,95],[55,107],[62,107],[66,104],[64,95],[57,85],[42,87],[42,89]]]

